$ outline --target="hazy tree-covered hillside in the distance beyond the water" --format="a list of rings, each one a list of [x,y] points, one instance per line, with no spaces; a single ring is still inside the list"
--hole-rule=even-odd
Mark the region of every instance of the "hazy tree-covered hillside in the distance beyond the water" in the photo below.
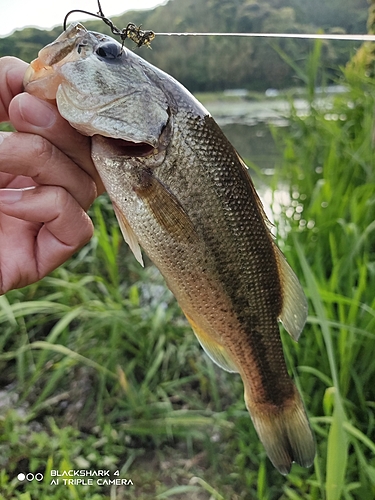
[[[374,0],[372,9],[374,12]],[[371,9],[370,9],[371,10]],[[157,32],[312,32],[318,28],[341,32],[363,32],[367,0],[169,0],[149,11],[130,11],[113,18],[119,27],[128,22]],[[374,22],[373,22],[374,23]],[[110,34],[98,20],[85,23],[88,29]],[[61,32],[27,28],[0,39],[0,56],[15,55],[30,61],[40,48]],[[266,89],[291,86],[298,81],[273,45],[294,61],[307,57],[311,43],[297,40],[207,37],[156,37],[153,50],[137,49],[145,59],[164,69],[192,91],[225,88]],[[359,44],[358,44],[359,45]],[[351,43],[325,44],[323,64],[344,65]]]

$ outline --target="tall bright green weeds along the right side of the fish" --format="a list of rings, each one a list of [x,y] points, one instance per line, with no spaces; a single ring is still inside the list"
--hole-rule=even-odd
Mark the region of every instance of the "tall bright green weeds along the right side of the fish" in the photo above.
[[[297,357],[327,500],[375,495],[375,87],[350,68],[344,76],[348,91],[329,111],[311,99],[307,116],[292,106],[288,131],[274,130],[292,200],[278,221],[280,245],[311,304]]]

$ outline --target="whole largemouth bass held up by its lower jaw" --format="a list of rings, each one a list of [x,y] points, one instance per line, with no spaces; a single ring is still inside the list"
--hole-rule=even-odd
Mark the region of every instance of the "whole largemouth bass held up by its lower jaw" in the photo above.
[[[171,76],[77,23],[39,52],[25,89],[56,99],[92,136],[125,240],[159,268],[211,359],[241,375],[274,466],[310,466],[314,437],[278,326],[298,340],[306,299],[245,164],[208,111]]]

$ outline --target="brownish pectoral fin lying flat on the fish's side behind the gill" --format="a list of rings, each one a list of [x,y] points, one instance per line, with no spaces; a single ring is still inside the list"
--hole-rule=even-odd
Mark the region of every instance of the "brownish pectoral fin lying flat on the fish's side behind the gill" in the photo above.
[[[178,241],[196,241],[194,225],[176,196],[150,174],[143,174],[142,181],[141,187],[134,190],[162,229]]]

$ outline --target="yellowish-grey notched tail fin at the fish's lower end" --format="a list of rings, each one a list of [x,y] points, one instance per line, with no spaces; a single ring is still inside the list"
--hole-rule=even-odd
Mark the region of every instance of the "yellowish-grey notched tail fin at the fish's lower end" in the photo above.
[[[254,403],[246,392],[245,401],[267,455],[281,474],[288,474],[293,462],[312,465],[315,439],[296,387],[294,397],[283,406]]]

